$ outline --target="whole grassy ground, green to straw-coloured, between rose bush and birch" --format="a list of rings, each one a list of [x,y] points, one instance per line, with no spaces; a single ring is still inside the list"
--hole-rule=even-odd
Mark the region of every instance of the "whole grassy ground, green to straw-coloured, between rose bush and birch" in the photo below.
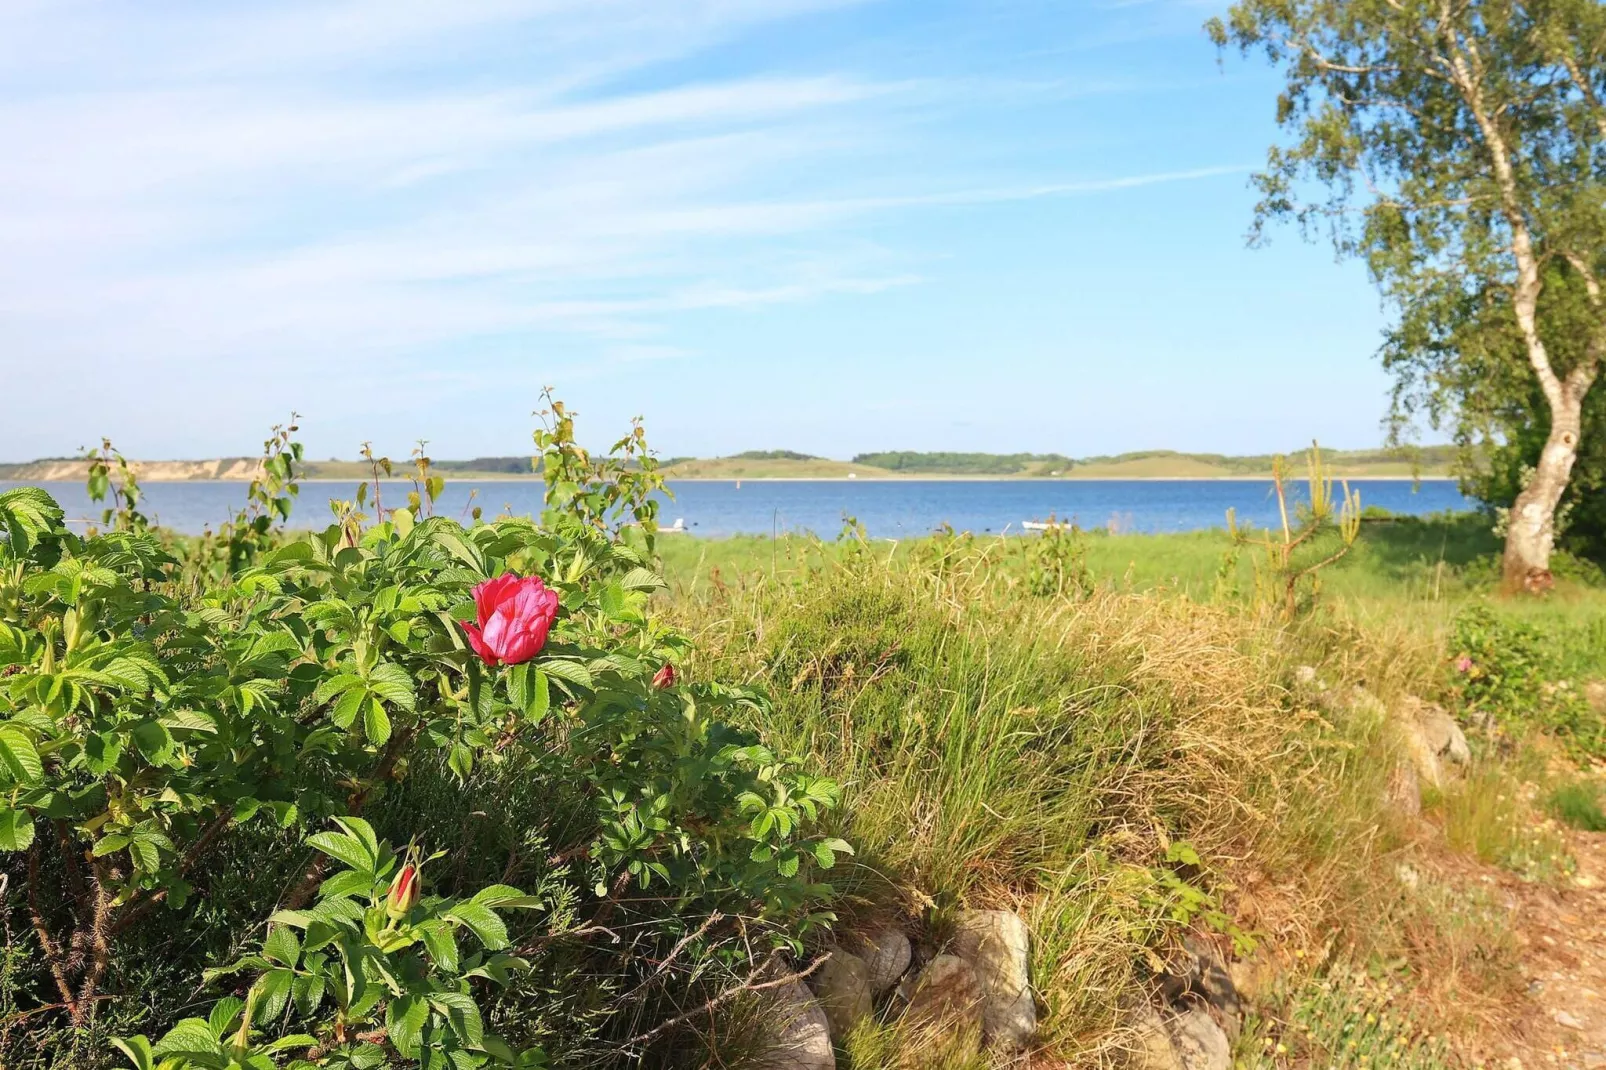
[[[1257,604],[1248,559],[1222,569],[1222,532],[1081,537],[1058,590],[1036,538],[662,549],[689,672],[764,681],[766,736],[848,784],[843,924],[893,916],[935,948],[960,906],[1028,919],[1041,1065],[1107,1062],[1131,993],[1190,927],[1278,978],[1246,1065],[1373,1065],[1344,1041],[1383,1003],[1415,1038],[1389,1049],[1397,1065],[1474,1065],[1524,1035],[1519,940],[1468,866],[1566,880],[1535,800],[1600,813],[1598,784],[1558,774],[1571,760],[1522,720],[1558,680],[1606,678],[1606,590],[1587,569],[1505,602],[1481,519],[1368,524],[1317,607],[1285,620]],[[1553,659],[1514,720],[1469,731],[1474,771],[1402,815],[1389,710],[1421,696],[1476,720],[1450,668],[1469,607],[1532,628]],[[1200,866],[1168,863],[1177,842]],[[867,1030],[845,1065],[938,1065],[901,1044]]]

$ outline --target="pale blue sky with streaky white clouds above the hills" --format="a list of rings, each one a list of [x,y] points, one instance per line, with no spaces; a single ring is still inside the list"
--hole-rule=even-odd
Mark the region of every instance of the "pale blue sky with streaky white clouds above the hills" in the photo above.
[[[0,0],[0,459],[1376,445],[1193,0]]]

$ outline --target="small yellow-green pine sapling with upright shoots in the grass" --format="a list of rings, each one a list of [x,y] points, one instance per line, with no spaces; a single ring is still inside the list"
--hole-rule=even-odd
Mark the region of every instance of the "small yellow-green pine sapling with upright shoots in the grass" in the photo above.
[[[1238,548],[1256,549],[1256,593],[1261,599],[1278,604],[1288,620],[1315,604],[1322,591],[1322,570],[1341,561],[1360,535],[1360,492],[1343,482],[1343,496],[1333,496],[1333,480],[1322,464],[1322,448],[1314,442],[1306,455],[1306,482],[1309,501],[1298,504],[1290,521],[1285,459],[1282,455],[1272,458],[1272,488],[1282,527],[1256,535],[1238,525],[1235,509],[1227,509],[1232,549],[1217,575],[1217,586],[1227,586],[1227,577],[1237,569]]]

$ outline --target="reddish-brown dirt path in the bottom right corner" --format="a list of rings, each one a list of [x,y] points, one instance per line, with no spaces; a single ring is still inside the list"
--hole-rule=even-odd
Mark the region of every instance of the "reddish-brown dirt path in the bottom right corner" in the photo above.
[[[1606,1070],[1606,834],[1571,832],[1577,872],[1559,888],[1510,874],[1498,884],[1522,948],[1534,1001],[1521,1039],[1505,1052],[1522,1067]]]

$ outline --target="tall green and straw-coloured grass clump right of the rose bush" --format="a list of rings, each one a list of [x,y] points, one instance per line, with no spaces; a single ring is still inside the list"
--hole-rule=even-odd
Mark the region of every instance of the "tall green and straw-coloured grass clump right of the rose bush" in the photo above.
[[[960,905],[1018,909],[1062,1059],[1107,1049],[1147,950],[1214,924],[1206,900],[1275,958],[1330,938],[1362,958],[1436,946],[1439,919],[1402,906],[1389,876],[1399,755],[1381,712],[1320,713],[1280,683],[1323,654],[1347,688],[1400,672],[1392,651],[1354,623],[1164,591],[1034,598],[996,553],[837,548],[671,606],[695,635],[687,668],[768,681],[766,737],[848,784],[867,879],[838,882],[861,900],[843,924],[903,913],[935,945]],[[1201,864],[1168,861],[1179,840]],[[896,1048],[877,1036],[866,1060]]]

